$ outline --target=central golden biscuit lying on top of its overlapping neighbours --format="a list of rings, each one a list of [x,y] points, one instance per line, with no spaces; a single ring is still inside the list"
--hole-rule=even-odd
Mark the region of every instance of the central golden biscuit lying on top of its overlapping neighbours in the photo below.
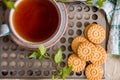
[[[83,42],[79,45],[77,55],[84,61],[89,61],[95,54],[96,47],[90,42]]]

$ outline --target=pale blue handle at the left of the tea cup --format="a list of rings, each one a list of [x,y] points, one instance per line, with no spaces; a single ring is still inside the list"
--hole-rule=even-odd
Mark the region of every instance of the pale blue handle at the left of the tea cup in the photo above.
[[[0,37],[6,36],[10,34],[10,29],[7,24],[2,24],[0,26]]]

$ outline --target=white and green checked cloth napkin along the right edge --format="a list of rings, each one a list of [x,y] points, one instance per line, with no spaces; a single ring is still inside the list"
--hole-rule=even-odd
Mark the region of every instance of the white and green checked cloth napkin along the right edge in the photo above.
[[[93,5],[98,7],[98,0],[93,0]],[[106,12],[110,25],[108,40],[108,53],[120,55],[120,0],[107,0],[102,9]]]

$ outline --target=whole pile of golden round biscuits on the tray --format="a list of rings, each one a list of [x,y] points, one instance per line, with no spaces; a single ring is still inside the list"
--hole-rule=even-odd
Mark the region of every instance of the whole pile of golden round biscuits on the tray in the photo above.
[[[107,54],[100,45],[106,37],[104,28],[98,24],[90,24],[84,30],[84,36],[78,36],[72,41],[73,54],[68,58],[68,66],[72,71],[80,72],[86,62],[91,64],[85,69],[88,80],[100,80],[103,76],[102,64],[106,61]]]

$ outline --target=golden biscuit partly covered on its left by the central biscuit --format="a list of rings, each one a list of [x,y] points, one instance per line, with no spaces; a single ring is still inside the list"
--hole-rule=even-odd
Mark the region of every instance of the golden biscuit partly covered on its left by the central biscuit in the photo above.
[[[91,59],[92,64],[101,65],[106,61],[106,59],[107,54],[105,49],[100,45],[96,45],[96,52],[94,57]]]

